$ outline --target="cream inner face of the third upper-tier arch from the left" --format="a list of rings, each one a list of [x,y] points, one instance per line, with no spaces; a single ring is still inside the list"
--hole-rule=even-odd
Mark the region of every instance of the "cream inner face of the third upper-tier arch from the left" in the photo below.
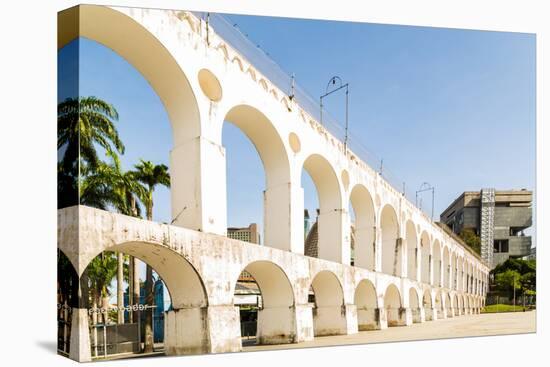
[[[319,202],[319,214],[313,226],[316,228],[316,238],[311,239],[312,243],[307,243],[310,241],[307,239],[304,253],[306,256],[349,264],[349,248],[343,245],[344,213],[338,177],[331,164],[319,154],[313,154],[304,161],[302,177],[304,174],[313,181]]]

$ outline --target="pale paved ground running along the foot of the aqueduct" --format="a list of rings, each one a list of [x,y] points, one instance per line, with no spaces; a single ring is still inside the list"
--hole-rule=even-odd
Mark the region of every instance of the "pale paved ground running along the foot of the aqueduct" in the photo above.
[[[313,341],[285,345],[252,345],[243,343],[244,351],[291,348],[326,347],[395,341],[460,338],[524,334],[536,331],[536,311],[467,315],[408,327],[391,327],[385,330],[361,331],[352,335],[316,337]]]

